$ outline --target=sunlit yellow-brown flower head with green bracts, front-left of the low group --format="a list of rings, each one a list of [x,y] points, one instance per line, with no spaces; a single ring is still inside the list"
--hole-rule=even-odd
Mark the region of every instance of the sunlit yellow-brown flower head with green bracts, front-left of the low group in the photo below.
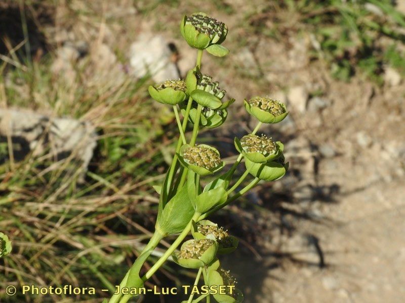
[[[185,241],[173,260],[186,268],[200,268],[210,264],[217,254],[218,243],[213,239]]]

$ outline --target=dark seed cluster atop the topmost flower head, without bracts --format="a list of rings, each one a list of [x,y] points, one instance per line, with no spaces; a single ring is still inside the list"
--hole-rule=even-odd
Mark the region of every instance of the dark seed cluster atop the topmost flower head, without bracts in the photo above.
[[[201,14],[186,17],[186,24],[191,24],[200,33],[210,36],[212,43],[216,43],[222,35],[226,35],[228,29],[223,22]]]

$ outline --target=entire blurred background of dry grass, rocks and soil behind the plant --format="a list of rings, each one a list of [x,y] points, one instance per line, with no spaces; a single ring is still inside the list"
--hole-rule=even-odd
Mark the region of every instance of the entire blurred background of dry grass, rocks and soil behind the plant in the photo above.
[[[1,1],[0,230],[13,252],[0,301],[101,302],[137,257],[177,140],[147,86],[194,66],[179,31],[193,12],[229,27],[231,53],[202,68],[236,98],[199,142],[234,156],[255,125],[245,97],[290,110],[261,129],[285,143],[288,174],[212,218],[240,239],[223,264],[245,301],[402,302],[404,0]],[[146,286],[193,278],[168,263]],[[10,297],[9,284],[98,292]]]

